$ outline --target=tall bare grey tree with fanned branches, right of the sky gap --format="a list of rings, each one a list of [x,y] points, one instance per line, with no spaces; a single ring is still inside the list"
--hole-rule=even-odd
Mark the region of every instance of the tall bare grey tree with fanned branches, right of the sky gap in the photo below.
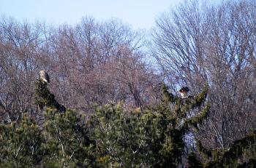
[[[211,113],[200,137],[227,147],[255,128],[255,1],[189,1],[162,15],[152,53],[176,89],[210,84]]]

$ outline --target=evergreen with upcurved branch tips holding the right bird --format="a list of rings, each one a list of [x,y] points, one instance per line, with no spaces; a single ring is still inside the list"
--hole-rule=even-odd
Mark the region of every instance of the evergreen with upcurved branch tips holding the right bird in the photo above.
[[[181,164],[185,153],[184,136],[191,132],[191,128],[197,129],[208,113],[208,105],[202,107],[206,100],[208,84],[203,91],[195,97],[189,96],[181,98],[168,92],[165,84],[162,85],[163,101],[154,111],[159,113],[159,123],[157,124],[162,136],[159,139],[159,167],[177,167]],[[188,117],[188,112],[199,111],[192,117]]]

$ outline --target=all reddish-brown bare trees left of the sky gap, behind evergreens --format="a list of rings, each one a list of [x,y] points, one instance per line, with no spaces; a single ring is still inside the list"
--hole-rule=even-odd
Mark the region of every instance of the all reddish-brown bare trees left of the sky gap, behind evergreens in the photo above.
[[[142,46],[142,36],[120,20],[99,23],[85,17],[78,25],[50,27],[1,17],[2,119],[17,121],[22,113],[34,111],[34,82],[42,69],[50,75],[56,99],[83,113],[94,103],[154,103],[159,76],[145,61]]]

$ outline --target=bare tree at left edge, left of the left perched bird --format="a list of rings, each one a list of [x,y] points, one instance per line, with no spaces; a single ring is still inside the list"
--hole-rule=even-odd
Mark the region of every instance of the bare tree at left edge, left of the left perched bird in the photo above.
[[[2,17],[0,21],[0,106],[11,121],[31,111],[37,53],[45,38],[42,25],[17,23]]]

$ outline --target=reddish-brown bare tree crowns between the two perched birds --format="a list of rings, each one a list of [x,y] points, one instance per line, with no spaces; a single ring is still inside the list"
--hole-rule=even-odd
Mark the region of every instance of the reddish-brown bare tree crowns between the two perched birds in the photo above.
[[[85,17],[74,27],[61,25],[50,39],[51,89],[65,106],[85,112],[94,103],[123,100],[142,107],[157,101],[159,92],[151,89],[159,76],[143,61],[141,39],[119,20],[97,23]]]

